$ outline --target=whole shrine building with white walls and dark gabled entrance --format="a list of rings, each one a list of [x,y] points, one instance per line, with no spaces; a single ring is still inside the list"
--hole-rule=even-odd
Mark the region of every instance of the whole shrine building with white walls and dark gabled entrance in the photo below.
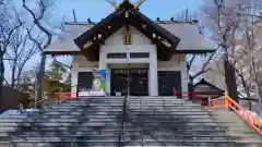
[[[195,22],[154,22],[124,1],[97,24],[67,23],[45,53],[73,56],[73,93],[91,89],[93,72],[105,70],[108,95],[172,96],[188,91],[187,53],[214,49]]]

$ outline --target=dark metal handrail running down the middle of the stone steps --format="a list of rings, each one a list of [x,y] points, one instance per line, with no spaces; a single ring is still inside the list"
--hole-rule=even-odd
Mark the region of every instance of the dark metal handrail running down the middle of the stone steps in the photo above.
[[[123,123],[126,122],[126,114],[127,114],[127,99],[128,96],[123,98],[122,105],[122,114],[119,121],[119,130],[118,130],[118,147],[122,147],[121,136],[123,135]]]

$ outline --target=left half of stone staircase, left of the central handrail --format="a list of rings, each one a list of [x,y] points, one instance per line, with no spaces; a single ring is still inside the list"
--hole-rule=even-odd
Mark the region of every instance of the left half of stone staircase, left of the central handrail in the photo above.
[[[0,147],[118,146],[123,97],[68,100],[28,118],[1,119]]]

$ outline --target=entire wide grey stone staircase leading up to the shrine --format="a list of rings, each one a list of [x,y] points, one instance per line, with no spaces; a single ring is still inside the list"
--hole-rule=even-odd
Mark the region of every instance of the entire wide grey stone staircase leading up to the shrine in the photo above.
[[[248,138],[247,132],[231,133],[247,125],[199,103],[175,97],[129,97],[123,103],[123,97],[78,98],[26,118],[1,118],[0,147],[262,146],[250,128],[254,136]]]

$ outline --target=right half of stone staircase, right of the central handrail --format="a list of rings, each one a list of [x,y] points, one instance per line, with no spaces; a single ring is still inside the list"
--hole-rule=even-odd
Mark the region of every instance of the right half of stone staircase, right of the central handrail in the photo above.
[[[235,121],[217,122],[199,103],[174,97],[130,97],[127,106],[123,146],[262,146],[258,138],[243,139],[243,134],[228,133]]]

